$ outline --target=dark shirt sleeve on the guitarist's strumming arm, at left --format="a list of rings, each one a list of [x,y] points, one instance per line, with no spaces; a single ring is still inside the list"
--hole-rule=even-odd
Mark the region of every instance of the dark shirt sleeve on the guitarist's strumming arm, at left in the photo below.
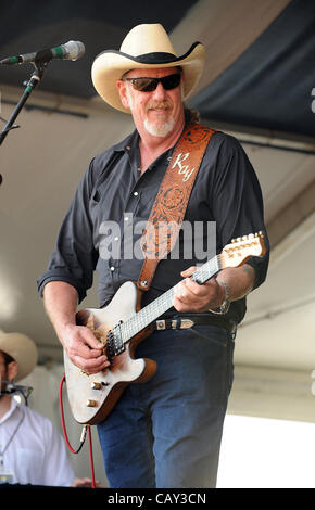
[[[79,302],[91,288],[98,252],[93,247],[93,228],[89,215],[89,200],[92,190],[93,160],[79,183],[72,204],[62,222],[55,248],[48,268],[37,280],[38,292],[42,295],[50,281],[64,281],[73,285]]]

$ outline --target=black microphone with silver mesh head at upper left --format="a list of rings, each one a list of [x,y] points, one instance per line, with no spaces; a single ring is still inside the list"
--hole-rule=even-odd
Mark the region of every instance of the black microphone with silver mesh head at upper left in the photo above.
[[[35,53],[25,53],[24,55],[9,56],[0,61],[2,65],[15,65],[15,64],[28,64],[33,62],[35,64],[45,64],[50,62],[52,59],[62,60],[77,60],[85,54],[85,46],[80,41],[68,41],[64,44],[56,46],[49,50],[40,50]]]

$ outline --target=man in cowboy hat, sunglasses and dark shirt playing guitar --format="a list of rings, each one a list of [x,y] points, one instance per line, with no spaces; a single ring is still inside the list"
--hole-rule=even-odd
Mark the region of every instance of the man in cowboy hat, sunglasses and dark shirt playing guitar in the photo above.
[[[204,48],[176,56],[161,25],[139,25],[119,51],[97,56],[92,80],[113,107],[131,113],[136,130],[96,156],[62,225],[47,271],[39,278],[47,313],[72,362],[88,373],[110,366],[102,345],[77,327],[78,302],[99,273],[100,306],[119,285],[137,280],[143,260],[102,256],[100,227],[147,220],[174,145],[190,122],[182,100],[196,87]],[[106,130],[109,126],[104,126]],[[240,144],[215,132],[199,169],[186,221],[216,221],[216,250],[235,237],[265,230],[260,184]],[[134,232],[134,242],[139,239]],[[118,237],[113,240],[123,244]],[[179,238],[182,253],[182,240]],[[142,305],[177,284],[168,317],[193,317],[191,329],[154,332],[136,352],[158,362],[146,384],[131,384],[98,425],[112,487],[213,487],[224,416],[232,381],[232,329],[244,296],[265,279],[266,255],[226,269],[204,285],[189,277],[196,257],[160,262]],[[228,304],[231,302],[229,310]],[[209,309],[219,308],[215,315]],[[206,323],[204,323],[206,322]]]

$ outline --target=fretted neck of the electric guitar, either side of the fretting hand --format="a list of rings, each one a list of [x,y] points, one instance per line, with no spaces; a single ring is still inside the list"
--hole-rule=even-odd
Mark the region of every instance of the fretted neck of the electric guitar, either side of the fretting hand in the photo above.
[[[203,264],[203,266],[199,267],[190,278],[201,285],[210,280],[210,278],[214,277],[214,275],[216,275],[220,269],[220,255],[216,255],[211,260]],[[154,299],[152,303],[144,306],[144,308],[135,314],[130,319],[126,320],[126,322],[123,322],[122,337],[124,343],[128,342],[133,336],[172,308],[175,286],[166,291],[158,297],[158,299]]]

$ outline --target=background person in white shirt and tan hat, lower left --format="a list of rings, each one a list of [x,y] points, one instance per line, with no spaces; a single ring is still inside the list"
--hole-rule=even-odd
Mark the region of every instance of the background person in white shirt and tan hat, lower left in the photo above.
[[[0,483],[91,486],[76,479],[62,436],[51,421],[5,393],[5,381],[26,378],[37,364],[34,342],[0,331]]]

